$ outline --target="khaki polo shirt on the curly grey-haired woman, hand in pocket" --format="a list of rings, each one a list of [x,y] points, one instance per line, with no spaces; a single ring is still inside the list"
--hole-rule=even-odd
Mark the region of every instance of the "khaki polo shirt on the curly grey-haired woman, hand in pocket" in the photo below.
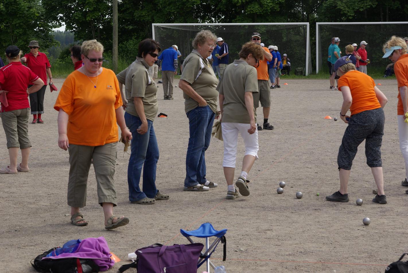
[[[214,74],[213,67],[207,59],[202,58],[197,50],[187,56],[183,62],[183,73],[180,80],[185,80],[207,102],[208,106],[217,112],[217,87],[218,79]],[[186,113],[198,107],[198,102],[183,93],[185,99],[184,108]]]

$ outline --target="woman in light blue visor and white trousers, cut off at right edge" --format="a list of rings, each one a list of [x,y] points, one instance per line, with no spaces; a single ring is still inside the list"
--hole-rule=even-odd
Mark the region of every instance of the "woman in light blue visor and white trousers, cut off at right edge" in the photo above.
[[[405,179],[402,186],[408,186],[408,47],[399,37],[392,36],[383,47],[384,56],[394,63],[395,77],[398,82],[397,120],[399,148],[405,161]],[[407,124],[405,124],[406,122]],[[408,190],[405,192],[408,194]]]

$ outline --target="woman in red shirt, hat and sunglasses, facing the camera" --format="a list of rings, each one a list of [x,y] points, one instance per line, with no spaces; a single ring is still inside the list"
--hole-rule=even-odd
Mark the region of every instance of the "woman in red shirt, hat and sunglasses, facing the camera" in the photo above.
[[[30,94],[31,114],[33,115],[33,121],[31,123],[44,123],[41,119],[41,114],[44,113],[44,94],[47,87],[47,74],[50,79],[50,85],[52,85],[51,64],[48,61],[47,55],[38,51],[40,46],[38,42],[32,40],[29,44],[30,53],[24,55],[21,58],[22,62],[27,63],[27,67],[31,69],[35,74],[40,77],[44,82],[44,86],[36,93]],[[32,83],[30,82],[30,85]]]

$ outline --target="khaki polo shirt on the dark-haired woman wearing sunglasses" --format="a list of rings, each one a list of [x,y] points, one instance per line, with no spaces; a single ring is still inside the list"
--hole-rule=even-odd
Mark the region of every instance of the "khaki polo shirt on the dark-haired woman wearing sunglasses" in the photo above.
[[[120,72],[116,77],[118,81],[125,85],[125,96],[126,100],[128,100],[125,111],[139,117],[133,98],[140,97],[142,98],[146,119],[154,121],[159,109],[157,103],[157,85],[149,76],[148,69],[149,65],[144,59],[137,57],[128,68]]]

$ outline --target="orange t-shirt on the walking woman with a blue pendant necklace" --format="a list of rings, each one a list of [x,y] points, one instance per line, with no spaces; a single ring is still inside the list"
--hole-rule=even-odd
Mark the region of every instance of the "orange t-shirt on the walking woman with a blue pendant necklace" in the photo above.
[[[94,88],[94,84],[96,88]],[[96,77],[73,71],[62,84],[54,109],[68,115],[69,144],[100,146],[118,142],[115,109],[122,106],[115,73],[102,68]]]

